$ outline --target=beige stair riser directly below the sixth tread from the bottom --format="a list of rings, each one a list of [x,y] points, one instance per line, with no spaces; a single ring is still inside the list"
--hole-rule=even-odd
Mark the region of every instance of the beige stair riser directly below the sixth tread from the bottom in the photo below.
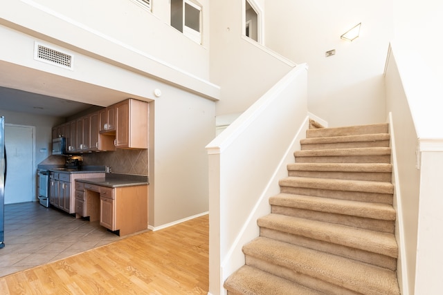
[[[289,170],[288,176],[343,180],[366,180],[379,182],[391,182],[392,180],[392,173],[390,172],[335,172]]]

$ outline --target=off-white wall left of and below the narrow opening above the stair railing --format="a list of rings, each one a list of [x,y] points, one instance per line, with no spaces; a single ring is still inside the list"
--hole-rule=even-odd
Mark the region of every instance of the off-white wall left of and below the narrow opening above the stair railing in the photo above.
[[[210,80],[221,87],[217,115],[242,113],[295,66],[244,36],[244,1],[210,3]]]

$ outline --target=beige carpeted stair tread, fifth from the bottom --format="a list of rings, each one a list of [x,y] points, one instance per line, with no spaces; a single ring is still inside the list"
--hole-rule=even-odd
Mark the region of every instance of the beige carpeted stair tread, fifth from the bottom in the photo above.
[[[309,189],[326,189],[334,191],[359,191],[365,193],[394,193],[394,186],[389,182],[365,180],[338,180],[329,178],[283,178],[280,187],[302,187]]]

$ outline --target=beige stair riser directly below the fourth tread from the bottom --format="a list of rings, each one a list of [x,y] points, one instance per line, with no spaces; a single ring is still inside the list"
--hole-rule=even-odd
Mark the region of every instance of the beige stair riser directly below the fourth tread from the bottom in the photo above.
[[[358,227],[359,229],[381,231],[383,233],[389,234],[393,234],[395,231],[395,222],[392,220],[377,220],[372,218],[363,218],[359,216],[346,216],[343,214],[312,211],[291,207],[281,207],[275,205],[271,207],[271,212],[297,218],[329,222],[337,225]]]

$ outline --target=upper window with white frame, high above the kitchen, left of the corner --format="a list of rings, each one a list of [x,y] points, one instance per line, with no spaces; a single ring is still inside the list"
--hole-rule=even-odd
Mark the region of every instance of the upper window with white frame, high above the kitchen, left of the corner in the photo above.
[[[171,26],[201,44],[201,7],[190,0],[171,0]]]

